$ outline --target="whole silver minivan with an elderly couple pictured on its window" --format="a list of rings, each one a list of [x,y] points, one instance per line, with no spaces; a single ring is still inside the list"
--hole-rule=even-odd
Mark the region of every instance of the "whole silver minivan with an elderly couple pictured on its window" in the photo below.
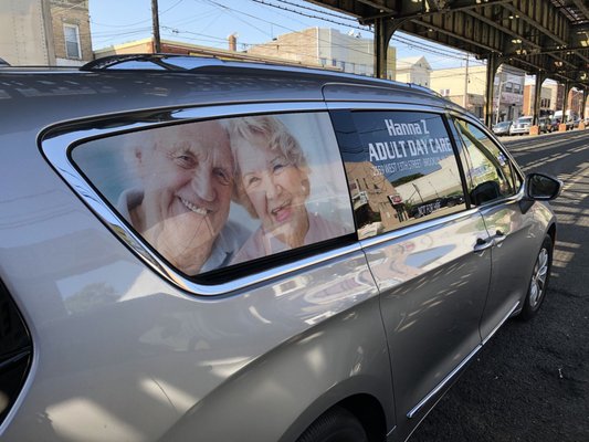
[[[404,441],[546,294],[560,182],[431,91],[0,69],[3,441]]]

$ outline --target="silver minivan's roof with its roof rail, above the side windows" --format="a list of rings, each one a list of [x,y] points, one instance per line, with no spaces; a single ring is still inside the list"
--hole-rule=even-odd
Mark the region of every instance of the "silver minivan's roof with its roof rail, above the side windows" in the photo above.
[[[318,69],[167,54],[116,55],[82,67],[0,67],[0,98],[6,104],[0,116],[11,127],[42,127],[113,112],[260,102],[376,101],[460,109],[413,84]]]

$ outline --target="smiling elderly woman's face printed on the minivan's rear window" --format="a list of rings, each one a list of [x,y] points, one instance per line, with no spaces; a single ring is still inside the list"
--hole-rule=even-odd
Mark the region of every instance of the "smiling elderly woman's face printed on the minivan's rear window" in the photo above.
[[[262,136],[254,137],[252,144],[240,139],[234,151],[243,188],[264,230],[278,238],[304,239],[308,229],[307,172],[292,165],[282,152],[271,150]]]

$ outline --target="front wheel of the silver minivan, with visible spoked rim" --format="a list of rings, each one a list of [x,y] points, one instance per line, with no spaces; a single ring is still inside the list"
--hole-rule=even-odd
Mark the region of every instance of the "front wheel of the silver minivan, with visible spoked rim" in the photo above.
[[[524,320],[532,319],[536,316],[546,297],[546,290],[548,287],[548,281],[550,280],[550,271],[553,269],[553,239],[549,235],[546,235],[536,257],[529,278],[526,299],[524,301],[524,307],[519,315]]]

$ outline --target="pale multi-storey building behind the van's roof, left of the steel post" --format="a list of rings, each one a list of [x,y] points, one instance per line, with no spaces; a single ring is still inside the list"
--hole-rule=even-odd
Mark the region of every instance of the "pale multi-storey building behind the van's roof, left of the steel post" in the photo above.
[[[271,42],[256,44],[248,53],[317,64],[359,75],[375,75],[372,39],[362,39],[359,33],[343,34],[335,29],[308,28],[290,32]],[[387,77],[395,80],[395,48],[389,46],[387,56]]]

